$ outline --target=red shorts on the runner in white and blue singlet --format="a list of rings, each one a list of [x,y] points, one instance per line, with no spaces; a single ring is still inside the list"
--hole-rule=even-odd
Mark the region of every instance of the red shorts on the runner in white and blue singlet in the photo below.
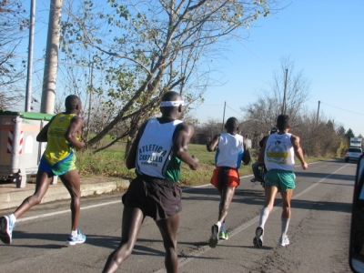
[[[211,184],[215,187],[238,187],[240,184],[240,177],[238,175],[238,168],[231,167],[216,167],[214,174],[211,177]]]

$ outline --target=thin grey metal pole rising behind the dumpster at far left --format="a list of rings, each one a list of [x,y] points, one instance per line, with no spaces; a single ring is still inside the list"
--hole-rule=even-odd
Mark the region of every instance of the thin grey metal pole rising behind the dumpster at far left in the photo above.
[[[32,101],[33,45],[35,31],[35,0],[30,2],[30,25],[28,44],[28,67],[26,72],[25,112],[30,112]]]

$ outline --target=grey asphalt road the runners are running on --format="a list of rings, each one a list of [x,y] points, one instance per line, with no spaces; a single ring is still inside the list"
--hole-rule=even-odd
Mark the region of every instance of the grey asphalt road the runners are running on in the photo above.
[[[229,239],[208,248],[219,197],[209,185],[184,188],[178,229],[178,272],[350,272],[349,224],[356,164],[332,160],[296,167],[291,244],[278,247],[280,198],[265,227],[263,248],[252,240],[264,191],[242,177],[227,216]],[[66,246],[69,201],[38,205],[18,219],[12,245],[0,242],[0,272],[101,272],[121,234],[122,194],[82,199],[79,227],[86,243]],[[12,210],[1,210],[8,214]],[[161,236],[146,218],[136,247],[119,272],[165,272]]]

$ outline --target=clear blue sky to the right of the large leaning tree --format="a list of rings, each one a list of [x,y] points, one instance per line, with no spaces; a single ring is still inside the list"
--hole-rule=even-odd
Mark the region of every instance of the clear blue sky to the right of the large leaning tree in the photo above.
[[[289,4],[283,1],[283,4]],[[259,18],[248,40],[232,44],[219,60],[223,86],[207,88],[197,109],[200,121],[244,116],[241,106],[268,89],[279,59],[290,56],[295,71],[311,82],[305,106],[364,136],[364,1],[292,1],[276,15]],[[218,75],[219,77],[221,75]]]

